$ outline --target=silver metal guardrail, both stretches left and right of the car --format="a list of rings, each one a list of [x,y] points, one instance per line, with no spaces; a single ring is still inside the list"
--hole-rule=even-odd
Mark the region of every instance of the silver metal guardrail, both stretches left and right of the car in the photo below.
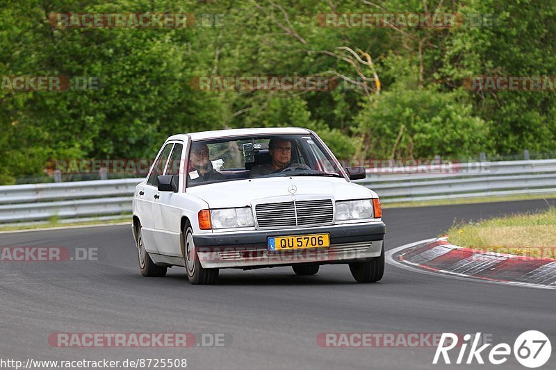
[[[443,167],[442,167],[443,166]],[[142,178],[0,186],[0,224],[101,218],[131,212]],[[511,194],[556,194],[556,160],[449,163],[367,169],[356,183],[383,203]]]

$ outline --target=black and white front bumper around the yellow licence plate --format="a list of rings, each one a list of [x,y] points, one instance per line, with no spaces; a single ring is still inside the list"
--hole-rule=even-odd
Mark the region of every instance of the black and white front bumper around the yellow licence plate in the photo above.
[[[329,233],[325,248],[269,251],[268,237]],[[334,264],[379,257],[386,226],[382,221],[287,230],[195,235],[193,241],[202,267],[256,268],[296,263]]]

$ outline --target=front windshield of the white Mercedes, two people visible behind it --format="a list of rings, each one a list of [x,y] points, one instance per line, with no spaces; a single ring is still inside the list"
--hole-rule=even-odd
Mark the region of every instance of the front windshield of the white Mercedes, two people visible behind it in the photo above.
[[[187,187],[279,176],[343,177],[312,135],[259,135],[192,142]]]

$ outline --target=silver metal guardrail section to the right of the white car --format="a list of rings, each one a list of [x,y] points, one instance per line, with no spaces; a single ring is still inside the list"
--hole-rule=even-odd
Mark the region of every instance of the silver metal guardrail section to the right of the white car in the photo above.
[[[413,171],[413,173],[411,173]],[[368,169],[357,183],[384,203],[556,193],[556,160],[517,160]]]

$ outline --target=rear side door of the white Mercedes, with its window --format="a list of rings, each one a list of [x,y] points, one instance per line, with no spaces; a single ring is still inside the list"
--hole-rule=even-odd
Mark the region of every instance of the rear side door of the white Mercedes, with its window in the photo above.
[[[158,202],[158,175],[163,174],[164,168],[172,151],[173,143],[165,143],[158,153],[154,164],[152,165],[147,182],[142,187],[143,194],[140,195],[140,222],[142,226],[143,243],[148,252],[158,253],[156,241],[154,238],[154,205]],[[155,197],[156,196],[156,197]]]

